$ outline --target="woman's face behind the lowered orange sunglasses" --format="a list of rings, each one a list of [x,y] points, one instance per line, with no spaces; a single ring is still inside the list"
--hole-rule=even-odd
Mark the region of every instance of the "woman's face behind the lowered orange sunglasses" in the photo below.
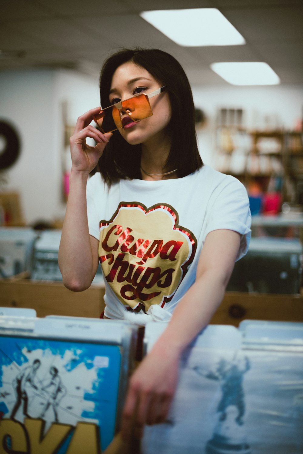
[[[112,76],[109,94],[110,104],[131,98],[137,93],[151,93],[161,84],[141,66],[127,62],[119,66]],[[122,137],[131,145],[164,140],[167,142],[166,127],[171,119],[171,105],[168,94],[164,91],[151,98],[152,117],[144,118],[137,123],[131,122],[119,129]],[[123,114],[123,118],[127,114]]]

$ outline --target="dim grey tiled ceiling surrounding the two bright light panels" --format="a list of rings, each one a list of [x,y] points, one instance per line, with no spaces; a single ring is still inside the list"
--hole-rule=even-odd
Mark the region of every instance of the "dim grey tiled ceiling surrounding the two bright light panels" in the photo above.
[[[143,10],[218,8],[245,45],[181,47],[143,20]],[[210,69],[264,61],[281,84],[303,84],[303,0],[1,0],[0,70],[71,68],[94,77],[121,47],[176,57],[192,85],[229,85]]]

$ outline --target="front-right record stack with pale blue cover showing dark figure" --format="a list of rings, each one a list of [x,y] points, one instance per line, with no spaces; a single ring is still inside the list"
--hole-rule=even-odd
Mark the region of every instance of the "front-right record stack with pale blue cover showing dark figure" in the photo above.
[[[147,351],[158,325],[147,326]],[[302,454],[302,342],[302,324],[208,326],[183,355],[166,422],[145,428],[142,453]]]

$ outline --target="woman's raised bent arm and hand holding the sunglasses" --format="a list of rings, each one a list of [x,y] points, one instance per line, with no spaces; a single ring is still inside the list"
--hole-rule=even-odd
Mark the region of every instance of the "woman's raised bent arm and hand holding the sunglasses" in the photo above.
[[[90,237],[88,231],[86,184],[112,135],[102,134],[90,126],[93,114],[99,109],[89,110],[79,117],[70,138],[72,169],[59,247],[59,267],[64,285],[73,291],[87,289],[98,267],[98,240]],[[85,140],[87,137],[93,138],[97,145],[89,146]]]

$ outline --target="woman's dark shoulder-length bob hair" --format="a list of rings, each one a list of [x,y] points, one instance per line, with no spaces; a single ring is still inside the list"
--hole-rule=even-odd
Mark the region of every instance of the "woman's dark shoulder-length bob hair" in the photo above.
[[[146,69],[160,84],[166,85],[171,103],[171,120],[167,131],[171,150],[166,171],[177,168],[178,178],[185,177],[203,166],[195,133],[195,108],[191,87],[181,64],[170,54],[159,49],[122,49],[112,54],[100,73],[100,101],[109,105],[109,91],[116,69],[129,61]],[[119,179],[141,179],[141,145],[130,145],[116,131],[99,160],[99,171],[110,186]]]

